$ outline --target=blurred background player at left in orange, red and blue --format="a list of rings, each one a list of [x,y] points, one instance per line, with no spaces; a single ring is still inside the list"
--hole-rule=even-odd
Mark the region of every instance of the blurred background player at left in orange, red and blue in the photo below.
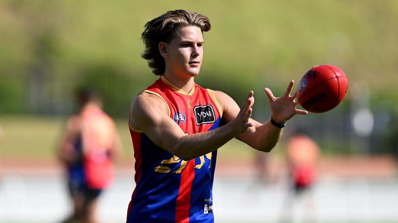
[[[121,143],[98,94],[82,88],[76,96],[80,112],[68,118],[58,151],[73,202],[73,213],[63,222],[95,223],[96,201],[113,181],[111,160],[121,152]]]

